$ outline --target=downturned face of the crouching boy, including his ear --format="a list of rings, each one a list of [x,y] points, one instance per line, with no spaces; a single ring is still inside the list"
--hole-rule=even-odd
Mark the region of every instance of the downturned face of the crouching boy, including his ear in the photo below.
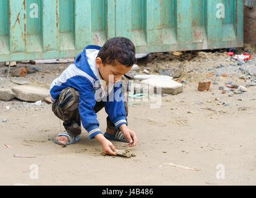
[[[122,75],[126,74],[130,71],[130,69],[132,69],[132,66],[127,67],[117,61],[115,66],[112,66],[111,64],[103,64],[101,58],[99,57],[96,58],[96,66],[107,84],[115,84],[117,81],[121,80]]]

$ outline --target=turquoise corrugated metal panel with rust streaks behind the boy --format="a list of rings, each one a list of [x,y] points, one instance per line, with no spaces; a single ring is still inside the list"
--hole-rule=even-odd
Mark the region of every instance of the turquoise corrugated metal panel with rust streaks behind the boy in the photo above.
[[[243,46],[243,0],[1,0],[0,62],[75,57],[128,37],[137,53]]]

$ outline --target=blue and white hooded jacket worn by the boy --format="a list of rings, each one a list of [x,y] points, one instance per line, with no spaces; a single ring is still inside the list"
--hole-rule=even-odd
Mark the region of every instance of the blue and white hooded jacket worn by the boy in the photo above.
[[[78,90],[80,93],[78,110],[81,123],[88,131],[90,139],[94,138],[96,134],[102,134],[97,115],[93,110],[96,101],[105,99],[103,101],[106,113],[116,128],[121,124],[127,124],[121,81],[112,84],[108,93],[106,93],[106,89],[103,89],[103,82],[95,62],[99,49],[101,47],[96,45],[86,46],[76,57],[75,64],[70,64],[50,85],[52,101],[57,100],[60,92],[66,87],[73,87]]]

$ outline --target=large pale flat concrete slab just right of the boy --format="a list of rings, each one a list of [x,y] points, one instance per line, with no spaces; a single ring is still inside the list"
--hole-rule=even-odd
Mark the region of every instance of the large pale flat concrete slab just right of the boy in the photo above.
[[[164,75],[166,76],[166,75]],[[168,78],[151,78],[147,80],[142,80],[141,84],[149,85],[150,87],[154,87],[154,90],[157,90],[157,87],[162,88],[162,93],[168,93],[176,95],[178,93],[183,92],[183,84],[176,82],[174,80],[170,80]]]

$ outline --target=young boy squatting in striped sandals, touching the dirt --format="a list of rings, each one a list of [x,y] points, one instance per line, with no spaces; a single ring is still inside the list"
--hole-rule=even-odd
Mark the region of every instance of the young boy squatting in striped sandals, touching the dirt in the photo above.
[[[55,143],[68,145],[80,139],[81,123],[101,143],[105,154],[116,155],[116,148],[107,139],[137,144],[137,136],[127,127],[128,105],[122,90],[127,90],[123,76],[135,62],[135,46],[128,38],[109,39],[101,48],[89,45],[50,86],[53,113],[62,119],[66,131]],[[121,80],[122,79],[122,80]],[[125,104],[124,104],[125,103]],[[96,113],[105,108],[107,129],[99,129]],[[107,138],[107,139],[106,139]]]

